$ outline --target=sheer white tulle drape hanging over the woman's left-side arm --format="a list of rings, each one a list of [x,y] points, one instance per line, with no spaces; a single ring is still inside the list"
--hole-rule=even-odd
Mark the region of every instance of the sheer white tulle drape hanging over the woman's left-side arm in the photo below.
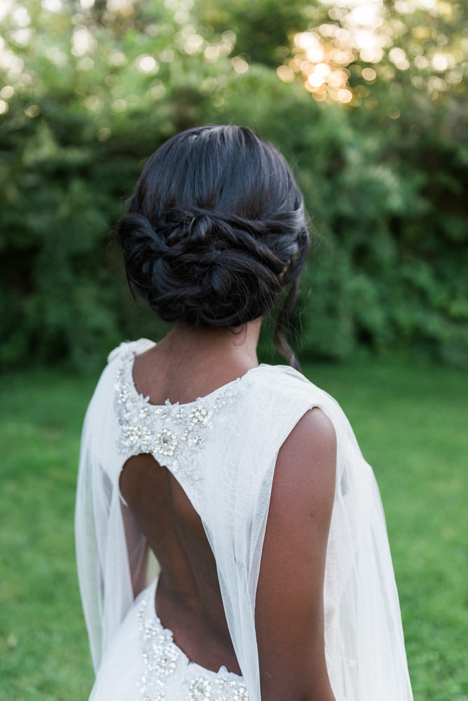
[[[95,671],[142,587],[146,565],[146,539],[118,492],[123,460],[113,400],[120,353],[109,356],[85,416],[76,491],[78,582]]]

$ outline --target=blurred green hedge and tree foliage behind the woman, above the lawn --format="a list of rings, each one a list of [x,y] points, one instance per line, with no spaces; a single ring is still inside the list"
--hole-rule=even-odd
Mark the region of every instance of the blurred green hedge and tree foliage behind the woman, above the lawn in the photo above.
[[[382,12],[376,79],[364,80],[371,64],[355,50],[343,69],[352,100],[338,104],[276,72],[293,65],[297,32],[348,31],[345,11],[326,4],[11,2],[0,47],[0,362],[84,367],[124,338],[163,333],[125,290],[109,230],[165,139],[233,122],[284,152],[317,233],[293,320],[301,357],[418,348],[466,364],[466,12],[439,0]]]

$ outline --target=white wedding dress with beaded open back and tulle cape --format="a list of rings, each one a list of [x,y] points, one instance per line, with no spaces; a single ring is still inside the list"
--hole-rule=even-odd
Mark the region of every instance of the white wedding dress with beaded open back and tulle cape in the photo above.
[[[123,343],[109,355],[83,427],[76,550],[96,670],[91,699],[261,701],[254,606],[275,461],[301,416],[320,407],[338,442],[324,581],[333,693],[336,701],[411,701],[380,496],[338,404],[294,369],[260,365],[190,404],[155,406],[132,381],[135,355],[152,345]],[[140,453],[172,472],[202,519],[242,677],[186,658],[156,615],[156,582],[134,601],[146,543],[118,479]]]

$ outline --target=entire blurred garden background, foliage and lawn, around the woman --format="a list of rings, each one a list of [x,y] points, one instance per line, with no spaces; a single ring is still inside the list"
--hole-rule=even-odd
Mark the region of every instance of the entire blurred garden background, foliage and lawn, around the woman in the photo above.
[[[165,332],[111,229],[151,151],[241,123],[314,233],[291,338],[387,512],[415,697],[468,700],[467,14],[448,0],[5,0],[0,695],[83,699],[79,429],[106,353]],[[268,337],[262,359],[275,362]]]

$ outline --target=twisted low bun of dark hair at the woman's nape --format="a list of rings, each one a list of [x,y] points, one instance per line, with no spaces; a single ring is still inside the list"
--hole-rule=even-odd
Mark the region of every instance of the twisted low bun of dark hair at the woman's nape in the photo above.
[[[157,228],[142,215],[118,225],[129,280],[161,318],[237,326],[273,307],[287,259],[265,238],[266,224],[214,210],[172,208]],[[288,250],[288,254],[294,254]]]

